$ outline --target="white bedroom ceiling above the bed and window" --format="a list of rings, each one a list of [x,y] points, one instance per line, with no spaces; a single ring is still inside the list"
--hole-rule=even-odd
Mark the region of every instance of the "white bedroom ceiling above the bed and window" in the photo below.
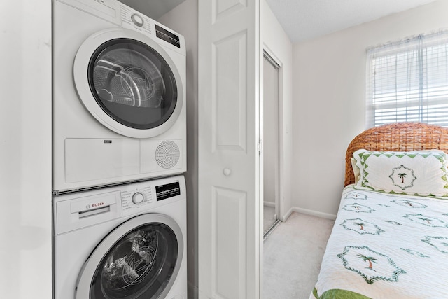
[[[293,43],[437,0],[266,0]]]

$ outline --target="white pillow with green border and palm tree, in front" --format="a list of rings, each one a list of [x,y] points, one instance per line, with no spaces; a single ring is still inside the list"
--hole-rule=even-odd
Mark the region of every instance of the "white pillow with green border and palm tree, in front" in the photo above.
[[[353,153],[360,179],[355,188],[386,193],[448,197],[447,155],[442,151]]]

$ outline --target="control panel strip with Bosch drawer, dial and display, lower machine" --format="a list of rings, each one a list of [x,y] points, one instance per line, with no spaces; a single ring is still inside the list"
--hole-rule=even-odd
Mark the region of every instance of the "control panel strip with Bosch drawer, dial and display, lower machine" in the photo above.
[[[186,200],[182,175],[53,196],[57,235]]]

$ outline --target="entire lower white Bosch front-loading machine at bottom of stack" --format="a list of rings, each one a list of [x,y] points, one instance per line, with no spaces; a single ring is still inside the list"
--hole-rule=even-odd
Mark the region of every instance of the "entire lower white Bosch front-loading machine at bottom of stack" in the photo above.
[[[53,197],[54,299],[187,298],[183,176]]]

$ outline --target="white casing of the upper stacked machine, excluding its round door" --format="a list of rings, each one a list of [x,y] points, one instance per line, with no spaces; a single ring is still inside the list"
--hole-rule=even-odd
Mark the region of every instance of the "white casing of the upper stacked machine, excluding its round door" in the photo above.
[[[139,20],[144,22],[143,28],[135,25],[135,22],[141,22]],[[163,55],[174,66],[174,73],[179,74],[176,84],[179,87],[178,106],[181,108],[176,111],[177,118],[171,118],[174,120],[171,127],[165,127],[165,132],[159,130],[155,136],[147,138],[128,137],[123,135],[124,132],[118,134],[99,121],[98,113],[89,112],[81,101],[79,90],[74,83],[73,62],[79,48],[89,36],[109,29],[123,29],[123,32],[132,30],[130,36],[137,34],[143,41],[155,41],[158,45],[155,48],[162,49],[160,52],[164,52]],[[167,34],[164,35],[164,30],[173,33],[176,37],[174,40],[179,39],[179,47],[167,42],[170,38]],[[183,36],[116,0],[102,3],[94,0],[55,0],[52,42],[52,189],[55,193],[181,174],[186,171],[186,50]],[[88,63],[88,60],[85,63]],[[90,90],[87,90],[84,96],[90,95],[89,92]],[[147,141],[152,139],[157,139],[159,144],[163,141],[179,144],[179,163],[170,169],[155,167],[156,157],[144,154]],[[100,144],[107,140],[120,141],[113,142],[112,146]]]

